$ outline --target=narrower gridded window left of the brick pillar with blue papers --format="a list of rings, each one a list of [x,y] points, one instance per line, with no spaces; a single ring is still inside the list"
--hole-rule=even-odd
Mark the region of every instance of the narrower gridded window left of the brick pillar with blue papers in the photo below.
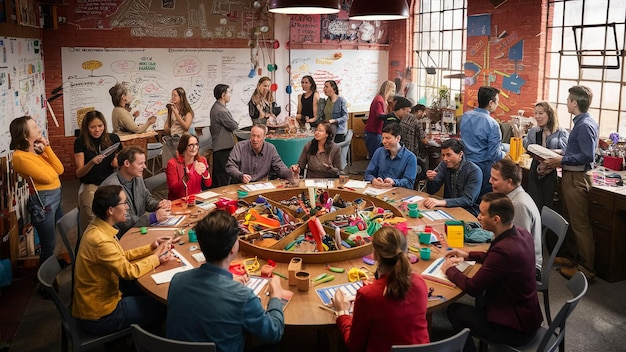
[[[431,106],[440,86],[450,89],[449,103],[463,89],[466,0],[418,0],[415,6],[413,77],[417,100]]]

